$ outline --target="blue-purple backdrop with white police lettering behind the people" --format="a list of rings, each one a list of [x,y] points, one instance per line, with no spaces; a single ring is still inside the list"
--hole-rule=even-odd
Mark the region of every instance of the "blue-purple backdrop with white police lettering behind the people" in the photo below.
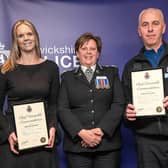
[[[162,9],[168,23],[166,0],[0,0],[0,64],[9,53],[11,26],[18,19],[29,19],[39,32],[43,55],[54,60],[61,72],[78,65],[74,42],[82,33],[92,32],[103,41],[100,63],[115,64],[121,73],[142,45],[137,20],[148,7]],[[168,40],[168,31],[164,38]],[[121,130],[122,168],[136,168],[134,137],[124,126]],[[58,149],[60,167],[65,168],[62,146]]]

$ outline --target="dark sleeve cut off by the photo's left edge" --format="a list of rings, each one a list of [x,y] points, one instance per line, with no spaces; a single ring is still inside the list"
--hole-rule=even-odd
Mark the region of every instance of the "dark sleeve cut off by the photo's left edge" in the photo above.
[[[5,75],[0,73],[0,143],[3,143],[5,140],[7,140],[9,135],[9,125],[6,116],[3,114],[6,86],[7,83]]]

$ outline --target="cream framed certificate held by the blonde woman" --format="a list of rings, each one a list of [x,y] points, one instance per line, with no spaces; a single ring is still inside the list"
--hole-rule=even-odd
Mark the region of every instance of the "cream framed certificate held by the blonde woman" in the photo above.
[[[48,130],[43,102],[14,105],[19,150],[48,144]]]

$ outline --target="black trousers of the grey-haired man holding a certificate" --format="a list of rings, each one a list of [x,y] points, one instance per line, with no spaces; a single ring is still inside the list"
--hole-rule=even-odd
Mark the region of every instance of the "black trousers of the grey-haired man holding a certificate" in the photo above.
[[[138,168],[168,168],[168,137],[136,136]]]

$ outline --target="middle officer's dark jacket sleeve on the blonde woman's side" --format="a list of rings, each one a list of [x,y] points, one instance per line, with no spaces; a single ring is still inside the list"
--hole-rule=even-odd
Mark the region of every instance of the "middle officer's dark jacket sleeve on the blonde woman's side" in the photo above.
[[[68,89],[70,89],[68,86],[68,80],[66,79],[65,74],[63,74],[58,99],[58,114],[63,128],[66,130],[66,132],[70,135],[72,139],[76,140],[78,132],[83,127],[78,118],[71,111],[68,97]]]

